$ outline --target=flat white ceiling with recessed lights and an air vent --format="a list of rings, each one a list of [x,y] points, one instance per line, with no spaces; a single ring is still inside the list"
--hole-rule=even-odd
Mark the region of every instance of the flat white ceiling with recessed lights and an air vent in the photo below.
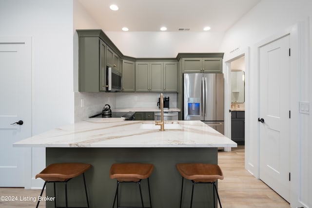
[[[104,31],[225,32],[260,0],[78,0]],[[110,10],[117,4],[118,11]],[[181,31],[182,32],[182,31]],[[187,31],[183,31],[184,33]]]

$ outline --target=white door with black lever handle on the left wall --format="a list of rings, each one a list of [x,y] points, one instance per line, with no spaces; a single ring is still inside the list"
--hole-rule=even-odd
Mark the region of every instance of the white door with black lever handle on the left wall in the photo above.
[[[24,187],[31,162],[30,148],[12,146],[31,136],[31,73],[31,38],[0,37],[0,187]]]

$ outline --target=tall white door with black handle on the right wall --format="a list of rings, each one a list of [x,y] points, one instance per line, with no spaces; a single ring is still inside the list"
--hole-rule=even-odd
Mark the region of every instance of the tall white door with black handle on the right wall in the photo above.
[[[262,46],[259,57],[259,177],[287,201],[290,201],[289,48],[288,35]]]

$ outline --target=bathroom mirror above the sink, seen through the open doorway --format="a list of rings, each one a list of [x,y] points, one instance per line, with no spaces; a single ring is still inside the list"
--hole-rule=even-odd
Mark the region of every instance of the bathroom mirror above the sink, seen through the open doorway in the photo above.
[[[231,99],[232,102],[245,102],[245,72],[231,71]]]

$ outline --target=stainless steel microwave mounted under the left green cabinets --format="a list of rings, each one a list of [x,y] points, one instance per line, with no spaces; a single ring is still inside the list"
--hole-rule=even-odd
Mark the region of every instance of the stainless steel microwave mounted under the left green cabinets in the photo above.
[[[106,67],[106,91],[121,92],[121,73],[112,67]]]

